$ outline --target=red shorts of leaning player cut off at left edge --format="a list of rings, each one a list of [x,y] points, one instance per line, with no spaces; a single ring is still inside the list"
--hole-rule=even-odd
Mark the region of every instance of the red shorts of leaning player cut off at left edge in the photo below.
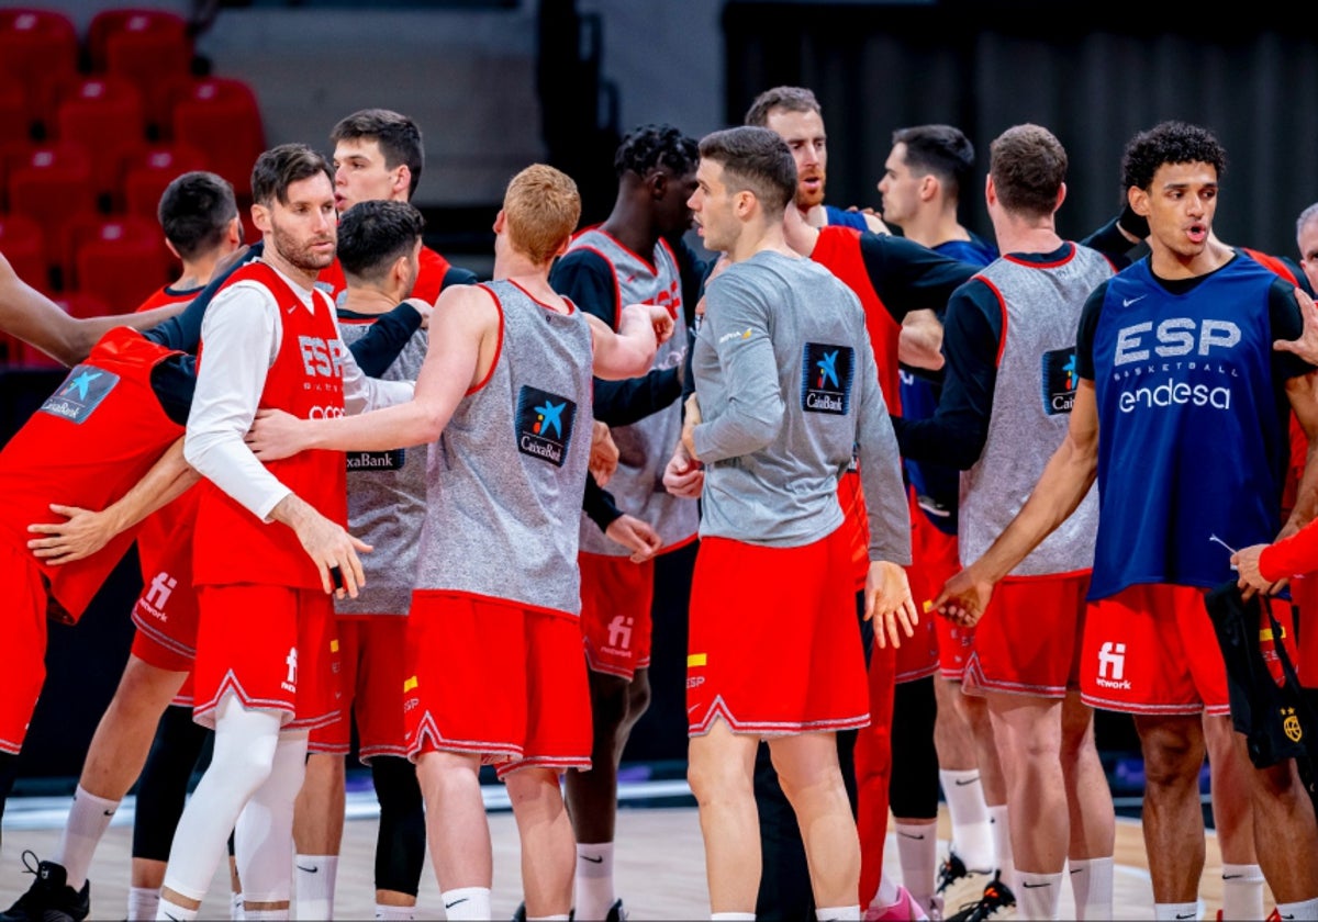
[[[5,678],[0,682],[0,752],[17,755],[46,681],[46,583],[26,551],[0,544],[0,573],[9,574],[4,601]]]

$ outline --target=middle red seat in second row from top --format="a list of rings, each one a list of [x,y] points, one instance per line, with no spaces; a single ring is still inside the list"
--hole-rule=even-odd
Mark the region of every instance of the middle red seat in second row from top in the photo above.
[[[120,165],[146,144],[142,94],[121,76],[92,76],[67,87],[55,109],[58,138],[96,151],[92,183],[101,211],[120,203]]]

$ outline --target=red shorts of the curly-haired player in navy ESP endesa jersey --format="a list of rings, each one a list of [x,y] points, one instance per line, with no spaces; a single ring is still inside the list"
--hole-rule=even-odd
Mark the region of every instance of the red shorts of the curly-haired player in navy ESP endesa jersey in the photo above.
[[[1128,714],[1227,714],[1227,670],[1203,589],[1144,583],[1091,603],[1081,694]]]

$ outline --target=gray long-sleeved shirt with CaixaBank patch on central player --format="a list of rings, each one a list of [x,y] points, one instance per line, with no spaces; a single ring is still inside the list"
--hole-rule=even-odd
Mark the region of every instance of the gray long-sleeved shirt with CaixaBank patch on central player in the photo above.
[[[855,449],[870,558],[911,562],[896,439],[846,285],[811,259],[757,253],[710,281],[693,349],[702,537],[768,547],[825,537],[842,524],[837,481]]]

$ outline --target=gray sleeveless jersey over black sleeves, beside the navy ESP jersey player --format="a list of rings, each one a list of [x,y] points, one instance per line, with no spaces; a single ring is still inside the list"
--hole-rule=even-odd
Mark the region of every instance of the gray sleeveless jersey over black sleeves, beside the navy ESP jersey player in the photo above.
[[[1075,399],[1075,329],[1089,294],[1112,275],[1106,257],[1074,246],[1068,259],[1033,263],[1003,257],[975,279],[1002,307],[998,377],[979,460],[961,474],[962,565],[978,560],[1033,493],[1066,437]],[[971,281],[967,285],[978,285]],[[1094,565],[1098,489],[1045,537],[1012,576],[1087,570]]]

